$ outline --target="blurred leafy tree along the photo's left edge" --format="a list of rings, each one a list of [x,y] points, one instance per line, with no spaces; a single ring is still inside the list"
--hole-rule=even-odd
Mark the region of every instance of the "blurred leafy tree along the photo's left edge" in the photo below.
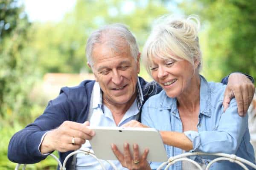
[[[30,26],[18,0],[0,0],[0,127],[29,119],[33,55],[26,48]]]

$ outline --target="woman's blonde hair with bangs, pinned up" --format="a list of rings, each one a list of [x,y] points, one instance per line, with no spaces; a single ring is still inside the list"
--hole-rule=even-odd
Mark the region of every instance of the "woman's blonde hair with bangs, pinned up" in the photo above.
[[[188,17],[164,15],[158,18],[153,24],[142,53],[148,74],[151,75],[152,57],[185,59],[192,65],[199,62],[198,70],[200,70],[199,29],[200,21],[197,15],[189,15]]]

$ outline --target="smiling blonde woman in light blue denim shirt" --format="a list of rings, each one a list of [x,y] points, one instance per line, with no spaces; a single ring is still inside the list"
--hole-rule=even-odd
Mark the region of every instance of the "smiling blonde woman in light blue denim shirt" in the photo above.
[[[248,116],[239,116],[235,99],[231,100],[224,112],[222,102],[226,85],[207,82],[199,74],[199,28],[200,22],[194,15],[187,18],[170,15],[159,19],[145,43],[143,61],[148,73],[163,91],[145,102],[142,124],[132,121],[126,126],[154,127],[159,130],[169,157],[185,151],[229,153],[254,163]],[[124,145],[124,155],[115,145],[112,146],[124,167],[142,170],[159,167],[159,162],[149,165],[146,161],[148,150],[139,156],[137,144],[133,148],[132,160],[128,144]],[[197,156],[193,159],[205,167],[211,157]],[[177,162],[169,169],[194,168],[192,164]],[[211,170],[239,168],[238,164],[221,161],[212,164]]]

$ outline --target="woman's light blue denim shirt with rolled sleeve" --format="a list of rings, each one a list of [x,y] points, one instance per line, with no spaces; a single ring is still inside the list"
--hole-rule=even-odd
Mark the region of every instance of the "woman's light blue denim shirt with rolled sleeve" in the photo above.
[[[253,147],[250,144],[248,114],[240,117],[236,100],[232,99],[229,108],[223,112],[222,102],[226,85],[207,82],[204,77],[200,82],[200,111],[198,113],[198,132],[186,131],[184,134],[192,141],[193,149],[189,152],[228,153],[255,163]],[[157,130],[183,132],[182,122],[177,109],[177,99],[169,98],[165,91],[151,96],[142,108],[142,123]],[[168,157],[182,153],[177,147],[165,145]],[[205,164],[214,156],[193,156],[191,159]],[[151,168],[157,169],[161,163],[151,162]],[[249,169],[251,167],[248,167]],[[182,162],[172,165],[169,170],[181,170]],[[230,161],[218,161],[211,170],[239,170],[238,164]]]

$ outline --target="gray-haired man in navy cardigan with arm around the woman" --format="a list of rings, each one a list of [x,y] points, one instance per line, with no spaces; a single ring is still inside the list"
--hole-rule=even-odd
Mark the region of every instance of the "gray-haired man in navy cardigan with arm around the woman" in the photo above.
[[[93,126],[113,127],[139,120],[143,103],[161,90],[138,77],[138,45],[131,32],[121,24],[94,31],[87,41],[86,54],[96,81],[85,80],[79,86],[61,88],[60,95],[49,102],[44,113],[12,137],[8,149],[11,161],[36,163],[58,150],[63,163],[73,150],[90,148],[87,139],[91,139],[94,132],[87,128],[89,122]],[[224,80],[228,79],[226,102],[236,96],[237,101],[243,101],[240,108],[246,112],[254,91],[253,83],[240,73],[233,73]],[[113,163],[119,169],[126,169],[118,161]],[[105,166],[111,169],[108,164]],[[84,167],[101,169],[86,155],[78,154],[67,161],[68,169]]]

